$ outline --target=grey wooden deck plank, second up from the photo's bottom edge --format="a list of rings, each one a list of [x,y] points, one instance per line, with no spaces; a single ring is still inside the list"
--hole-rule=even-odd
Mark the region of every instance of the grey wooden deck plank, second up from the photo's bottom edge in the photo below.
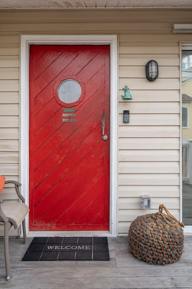
[[[27,262],[28,263],[28,262]],[[161,269],[160,269],[161,267]],[[145,270],[141,270],[140,267],[130,267],[129,270],[126,267],[114,267],[114,268],[14,268],[12,269],[12,275],[14,278],[110,278],[110,277],[173,277],[179,276],[191,276],[192,266],[175,267],[172,266],[154,266],[150,265]],[[1,273],[2,275],[2,273]],[[0,277],[1,277],[0,275]],[[3,278],[3,275],[2,277]]]

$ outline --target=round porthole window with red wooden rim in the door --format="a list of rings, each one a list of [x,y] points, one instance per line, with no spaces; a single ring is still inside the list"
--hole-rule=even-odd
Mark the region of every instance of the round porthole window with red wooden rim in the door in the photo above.
[[[79,77],[67,75],[56,81],[53,92],[59,104],[66,107],[73,107],[83,100],[85,96],[85,85]]]

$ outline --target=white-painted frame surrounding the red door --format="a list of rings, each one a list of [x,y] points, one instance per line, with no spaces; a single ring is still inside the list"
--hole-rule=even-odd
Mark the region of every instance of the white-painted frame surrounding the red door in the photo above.
[[[110,235],[117,234],[117,35],[21,35],[20,70],[20,181],[21,193],[29,205],[29,45],[110,45]],[[50,235],[108,235],[106,231],[29,232],[28,236]],[[22,232],[21,232],[22,235]]]

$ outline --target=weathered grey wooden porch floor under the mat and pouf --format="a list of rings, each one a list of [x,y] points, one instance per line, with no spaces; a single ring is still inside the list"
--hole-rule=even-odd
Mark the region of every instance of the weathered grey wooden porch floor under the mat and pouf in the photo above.
[[[0,238],[0,289],[192,288],[192,236],[184,238],[181,259],[165,266],[135,258],[126,237],[108,238],[110,261],[21,261],[31,241],[10,238],[12,278],[6,281]]]

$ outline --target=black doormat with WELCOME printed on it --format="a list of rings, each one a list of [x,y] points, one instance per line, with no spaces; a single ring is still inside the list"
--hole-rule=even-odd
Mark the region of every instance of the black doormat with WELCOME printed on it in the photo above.
[[[109,259],[107,237],[35,237],[22,261]]]

